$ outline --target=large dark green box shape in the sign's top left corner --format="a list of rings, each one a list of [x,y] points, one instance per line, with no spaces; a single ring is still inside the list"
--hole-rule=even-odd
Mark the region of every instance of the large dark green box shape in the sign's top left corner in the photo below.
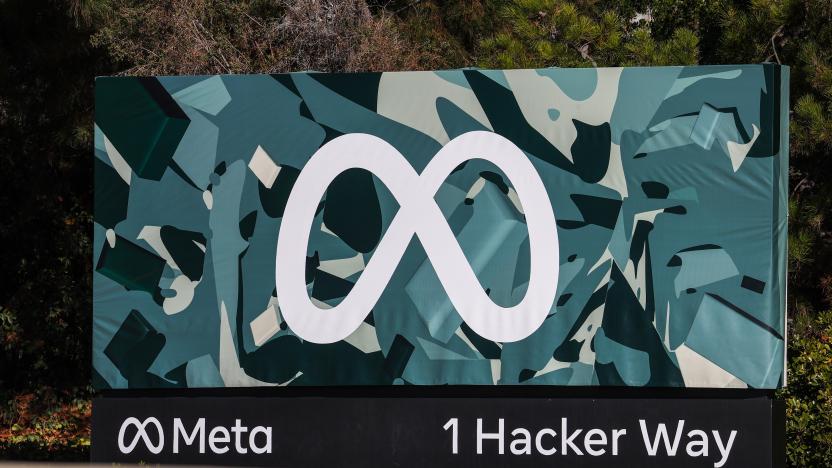
[[[139,177],[160,180],[190,120],[156,78],[98,78],[95,122]]]

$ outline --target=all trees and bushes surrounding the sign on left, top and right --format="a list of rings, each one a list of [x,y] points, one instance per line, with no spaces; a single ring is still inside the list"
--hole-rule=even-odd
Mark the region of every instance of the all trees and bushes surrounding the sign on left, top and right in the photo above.
[[[87,453],[94,76],[774,61],[792,67],[788,458],[826,464],[831,60],[829,0],[0,0],[0,458]]]

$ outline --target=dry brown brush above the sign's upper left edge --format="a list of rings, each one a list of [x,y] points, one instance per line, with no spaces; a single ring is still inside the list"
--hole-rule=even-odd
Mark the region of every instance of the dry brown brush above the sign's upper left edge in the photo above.
[[[364,0],[121,4],[92,38],[124,75],[412,70],[429,64]]]

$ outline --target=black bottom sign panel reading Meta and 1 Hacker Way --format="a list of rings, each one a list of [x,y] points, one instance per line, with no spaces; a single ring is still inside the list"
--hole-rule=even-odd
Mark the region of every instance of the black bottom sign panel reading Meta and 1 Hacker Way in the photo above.
[[[771,467],[772,400],[98,398],[94,462]],[[780,435],[779,437],[782,437]],[[775,450],[776,451],[776,450]]]

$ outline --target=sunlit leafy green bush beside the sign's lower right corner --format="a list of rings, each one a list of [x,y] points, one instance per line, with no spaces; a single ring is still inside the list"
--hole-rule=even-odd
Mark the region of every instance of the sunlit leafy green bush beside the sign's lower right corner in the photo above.
[[[786,402],[787,457],[793,466],[828,466],[832,460],[832,312],[789,344]]]

